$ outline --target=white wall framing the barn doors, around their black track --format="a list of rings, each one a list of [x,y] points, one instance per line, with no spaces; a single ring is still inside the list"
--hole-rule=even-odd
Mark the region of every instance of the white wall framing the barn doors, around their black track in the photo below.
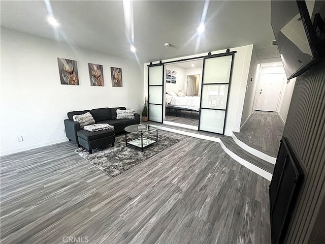
[[[253,44],[231,48],[231,51],[237,51],[234,58],[233,64],[233,74],[232,74],[232,83],[231,91],[229,98],[228,114],[226,118],[226,125],[224,134],[231,136],[232,132],[239,132],[240,121],[243,112],[244,99],[245,99],[245,90],[249,73],[250,60],[252,56]],[[212,54],[224,53],[225,50],[213,51]],[[162,62],[177,61],[179,59],[199,57],[207,55],[207,53],[200,53],[191,56],[177,57],[167,60],[162,60]],[[152,62],[152,63],[159,63]],[[144,64],[144,91],[147,94],[147,85],[148,85],[148,76],[147,76],[147,66],[149,63]]]

